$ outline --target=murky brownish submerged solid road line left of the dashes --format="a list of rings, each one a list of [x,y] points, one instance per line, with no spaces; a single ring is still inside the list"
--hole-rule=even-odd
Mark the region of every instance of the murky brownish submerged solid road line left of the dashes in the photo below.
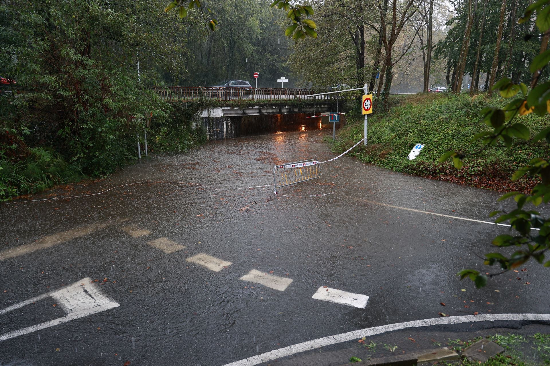
[[[5,261],[9,258],[18,257],[27,253],[31,253],[37,250],[46,249],[51,246],[64,243],[72,239],[84,237],[84,235],[90,234],[97,229],[107,227],[108,223],[91,224],[89,226],[80,227],[76,229],[67,230],[61,233],[48,235],[41,239],[36,240],[34,243],[19,245],[11,249],[6,249],[0,252],[0,261]]]

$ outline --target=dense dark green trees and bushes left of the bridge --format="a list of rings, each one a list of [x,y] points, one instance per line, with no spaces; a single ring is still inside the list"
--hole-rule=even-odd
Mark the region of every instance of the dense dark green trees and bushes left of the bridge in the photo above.
[[[160,0],[52,0],[25,12],[7,4],[0,5],[0,70],[17,80],[19,96],[0,97],[1,198],[81,172],[112,173],[135,159],[136,133],[148,119],[149,133],[159,136],[153,150],[200,141],[200,132],[179,121],[172,127],[172,107],[150,89],[160,80],[157,69],[179,68],[180,46],[158,37],[179,30]]]

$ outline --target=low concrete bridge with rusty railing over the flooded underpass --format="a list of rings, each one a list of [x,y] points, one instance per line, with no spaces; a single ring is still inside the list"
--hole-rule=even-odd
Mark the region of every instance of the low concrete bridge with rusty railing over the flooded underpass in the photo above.
[[[208,139],[332,128],[328,116],[311,119],[306,117],[341,111],[345,100],[354,99],[361,93],[345,92],[310,97],[309,95],[322,91],[205,87],[158,87],[155,90],[169,102],[205,102],[207,106],[197,113],[194,123],[197,128],[205,129]],[[345,123],[344,115],[340,121]]]

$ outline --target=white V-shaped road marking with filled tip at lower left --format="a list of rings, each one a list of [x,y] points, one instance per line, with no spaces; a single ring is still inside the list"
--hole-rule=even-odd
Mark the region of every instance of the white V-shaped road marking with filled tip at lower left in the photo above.
[[[47,296],[51,296],[67,313],[67,316],[2,334],[0,335],[0,342],[40,329],[49,328],[50,326],[67,323],[70,322],[70,320],[87,317],[91,314],[119,306],[117,302],[109,299],[105,295],[102,295],[95,285],[90,284],[91,281],[92,280],[90,278],[86,277],[62,289],[48,292],[47,294],[1,309],[0,315],[25,305],[29,305],[34,301],[44,299]]]

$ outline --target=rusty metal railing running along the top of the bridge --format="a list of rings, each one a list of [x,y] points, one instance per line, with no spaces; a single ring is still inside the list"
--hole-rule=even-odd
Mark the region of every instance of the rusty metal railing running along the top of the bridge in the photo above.
[[[212,100],[336,100],[354,99],[356,93],[313,94],[322,91],[300,88],[218,88],[218,87],[155,87],[163,99],[191,102],[200,99]]]

